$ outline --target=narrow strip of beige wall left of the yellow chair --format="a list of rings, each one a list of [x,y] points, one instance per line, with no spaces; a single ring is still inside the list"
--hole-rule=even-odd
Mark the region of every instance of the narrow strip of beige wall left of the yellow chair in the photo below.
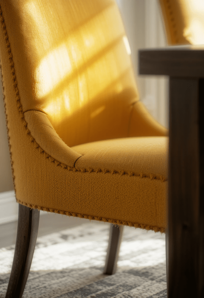
[[[13,190],[4,102],[0,83],[0,193]]]

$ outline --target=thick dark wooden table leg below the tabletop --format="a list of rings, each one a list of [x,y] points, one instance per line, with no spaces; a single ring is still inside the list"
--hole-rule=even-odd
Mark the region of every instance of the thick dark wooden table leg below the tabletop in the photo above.
[[[204,297],[204,79],[169,80],[167,297]]]

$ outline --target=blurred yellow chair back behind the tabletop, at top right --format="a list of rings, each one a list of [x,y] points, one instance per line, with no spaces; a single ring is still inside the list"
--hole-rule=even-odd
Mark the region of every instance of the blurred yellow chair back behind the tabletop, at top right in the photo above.
[[[203,0],[159,0],[169,45],[204,44]]]

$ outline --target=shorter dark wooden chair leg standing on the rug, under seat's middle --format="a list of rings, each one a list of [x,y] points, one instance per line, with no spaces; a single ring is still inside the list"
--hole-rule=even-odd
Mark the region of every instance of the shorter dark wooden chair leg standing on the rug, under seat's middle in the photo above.
[[[123,226],[110,225],[108,250],[103,274],[114,274],[116,272],[119,249],[122,240]]]

